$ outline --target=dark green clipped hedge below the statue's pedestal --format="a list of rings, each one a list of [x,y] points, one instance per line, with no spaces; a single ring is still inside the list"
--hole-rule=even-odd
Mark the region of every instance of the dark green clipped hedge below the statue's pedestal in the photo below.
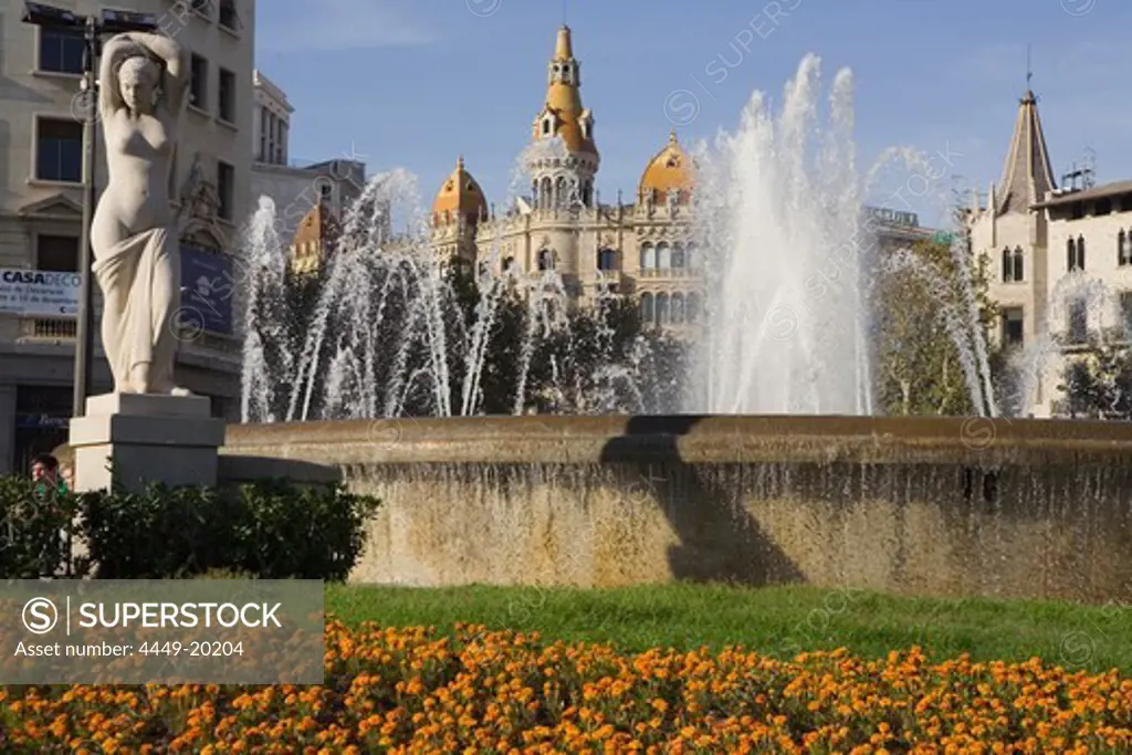
[[[342,483],[259,480],[220,488],[153,486],[68,494],[0,479],[0,576],[60,573],[65,531],[86,544],[72,574],[103,580],[186,578],[226,570],[260,578],[345,581],[378,501]],[[93,563],[93,565],[92,565]]]

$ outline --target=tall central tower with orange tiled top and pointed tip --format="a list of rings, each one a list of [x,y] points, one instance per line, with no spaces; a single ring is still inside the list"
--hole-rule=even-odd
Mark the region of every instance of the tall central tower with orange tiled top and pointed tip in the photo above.
[[[593,114],[582,106],[581,66],[574,58],[568,26],[558,29],[547,79],[547,98],[534,119],[534,141],[528,160],[534,206],[593,207],[598,147],[593,140]]]

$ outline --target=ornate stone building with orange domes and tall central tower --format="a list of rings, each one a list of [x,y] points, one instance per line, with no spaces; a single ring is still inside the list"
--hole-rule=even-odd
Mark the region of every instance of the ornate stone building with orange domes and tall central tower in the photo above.
[[[692,224],[696,166],[675,131],[649,161],[632,203],[601,204],[593,113],[582,104],[571,29],[558,29],[547,93],[524,155],[530,192],[497,214],[463,157],[431,211],[431,247],[444,259],[538,278],[557,273],[581,302],[632,295],[646,324],[692,333],[703,315],[703,259]],[[927,238],[911,213],[874,212],[882,242]]]

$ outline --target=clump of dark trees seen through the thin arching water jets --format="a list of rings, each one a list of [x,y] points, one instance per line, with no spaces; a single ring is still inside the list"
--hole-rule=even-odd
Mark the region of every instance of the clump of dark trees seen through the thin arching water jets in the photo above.
[[[685,345],[643,328],[632,299],[540,300],[526,282],[478,278],[458,259],[437,281],[408,259],[362,257],[348,278],[334,291],[325,272],[258,280],[254,321],[266,379],[254,391],[264,404],[257,415],[286,418],[300,376],[303,400],[312,389],[310,419],[681,405]],[[318,317],[325,337],[311,376],[300,367]]]

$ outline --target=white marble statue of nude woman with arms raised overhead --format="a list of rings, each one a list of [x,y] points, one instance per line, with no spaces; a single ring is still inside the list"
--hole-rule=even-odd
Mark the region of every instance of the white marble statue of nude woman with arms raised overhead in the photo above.
[[[188,395],[173,383],[181,255],[168,189],[188,58],[172,38],[137,32],[113,36],[102,51],[98,110],[109,180],[91,249],[114,393]]]

